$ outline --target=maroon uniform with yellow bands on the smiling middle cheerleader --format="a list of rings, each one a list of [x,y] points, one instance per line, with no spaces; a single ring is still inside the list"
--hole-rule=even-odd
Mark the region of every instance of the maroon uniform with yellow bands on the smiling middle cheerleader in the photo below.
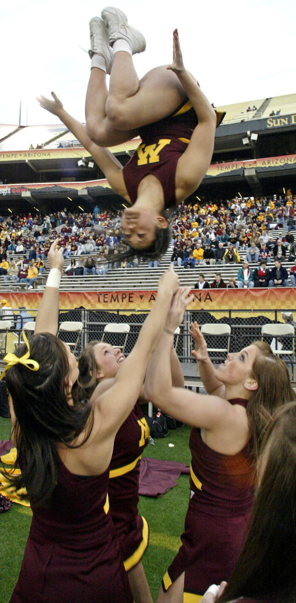
[[[137,505],[140,458],[149,435],[137,402],[115,437],[108,490],[112,520],[127,572],[139,563],[148,546],[148,523],[139,515]]]

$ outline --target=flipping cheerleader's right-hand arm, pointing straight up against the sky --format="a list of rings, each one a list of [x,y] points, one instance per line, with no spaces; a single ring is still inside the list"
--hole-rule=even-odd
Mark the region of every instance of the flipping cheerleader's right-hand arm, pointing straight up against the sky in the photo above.
[[[214,149],[216,114],[197,81],[184,68],[178,30],[175,30],[173,35],[174,60],[168,69],[177,75],[198,117],[198,125],[191,136],[191,141],[178,160],[176,198],[181,200],[198,188],[209,168]]]

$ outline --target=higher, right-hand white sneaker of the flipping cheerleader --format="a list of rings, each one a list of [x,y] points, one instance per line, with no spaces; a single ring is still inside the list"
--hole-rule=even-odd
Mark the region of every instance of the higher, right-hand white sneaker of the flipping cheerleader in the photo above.
[[[109,6],[101,13],[102,20],[109,33],[109,43],[112,46],[115,40],[127,40],[132,54],[143,52],[146,48],[145,37],[131,25],[128,25],[127,16],[122,10]]]

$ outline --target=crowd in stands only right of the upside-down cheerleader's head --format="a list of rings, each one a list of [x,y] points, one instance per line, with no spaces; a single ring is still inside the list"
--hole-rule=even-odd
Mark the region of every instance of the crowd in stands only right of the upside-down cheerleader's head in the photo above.
[[[195,288],[253,288],[288,286],[289,275],[283,261],[295,263],[295,202],[291,194],[285,198],[242,199],[215,204],[179,206],[180,213],[172,221],[174,266],[194,269],[198,266],[241,264],[237,279],[228,285],[221,273],[209,285],[203,274]],[[286,232],[287,229],[287,232]],[[276,230],[276,238],[271,236]],[[244,256],[244,257],[241,257]],[[266,265],[274,265],[266,268]],[[257,264],[252,270],[249,263]],[[291,283],[295,286],[295,268]]]

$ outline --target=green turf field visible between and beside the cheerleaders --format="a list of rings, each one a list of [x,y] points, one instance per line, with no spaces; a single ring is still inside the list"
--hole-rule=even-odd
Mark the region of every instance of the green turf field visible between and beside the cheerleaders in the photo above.
[[[145,456],[190,464],[188,447],[190,428],[169,431],[166,438],[149,444]],[[10,420],[0,417],[0,440],[10,437]],[[169,447],[168,444],[174,444]],[[150,526],[150,545],[143,557],[151,594],[155,601],[163,574],[180,546],[189,497],[189,477],[181,475],[177,486],[159,499],[140,496],[139,513]],[[22,562],[31,523],[31,509],[13,504],[0,514],[0,603],[8,603]]]

